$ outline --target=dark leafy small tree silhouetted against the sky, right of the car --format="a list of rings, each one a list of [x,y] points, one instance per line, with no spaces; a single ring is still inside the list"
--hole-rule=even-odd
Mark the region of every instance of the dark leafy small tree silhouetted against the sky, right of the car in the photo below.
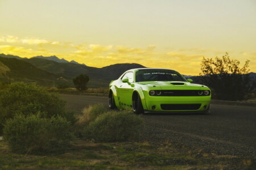
[[[249,77],[249,60],[243,67],[240,61],[230,59],[226,53],[222,58],[203,58],[201,63],[201,77],[203,83],[212,88],[216,99],[242,100],[253,90]]]

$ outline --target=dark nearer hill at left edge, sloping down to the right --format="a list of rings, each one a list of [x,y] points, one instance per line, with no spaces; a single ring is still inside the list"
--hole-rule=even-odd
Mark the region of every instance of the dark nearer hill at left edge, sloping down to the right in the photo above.
[[[59,77],[21,59],[0,57],[1,82],[9,82],[11,78],[11,82],[36,82],[43,86],[51,86],[52,81]]]

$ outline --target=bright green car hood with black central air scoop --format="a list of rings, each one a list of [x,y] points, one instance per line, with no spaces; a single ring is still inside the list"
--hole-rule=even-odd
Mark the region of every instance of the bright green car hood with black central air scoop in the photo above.
[[[155,89],[155,90],[202,90],[208,88],[201,84],[194,84],[189,82],[138,82],[143,87]]]

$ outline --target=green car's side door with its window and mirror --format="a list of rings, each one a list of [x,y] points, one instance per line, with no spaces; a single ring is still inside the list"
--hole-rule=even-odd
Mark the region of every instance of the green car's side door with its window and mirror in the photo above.
[[[122,108],[131,108],[132,95],[134,90],[134,74],[133,72],[127,72],[122,76],[121,80],[128,79],[129,83],[121,83],[119,87],[119,99],[121,101]]]

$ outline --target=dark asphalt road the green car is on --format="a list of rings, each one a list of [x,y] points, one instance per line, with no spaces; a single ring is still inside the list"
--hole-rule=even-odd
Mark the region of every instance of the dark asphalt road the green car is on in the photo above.
[[[107,97],[61,95],[67,108],[81,112]],[[156,145],[170,141],[221,155],[256,157],[256,107],[211,104],[208,114],[143,114],[142,140]]]

